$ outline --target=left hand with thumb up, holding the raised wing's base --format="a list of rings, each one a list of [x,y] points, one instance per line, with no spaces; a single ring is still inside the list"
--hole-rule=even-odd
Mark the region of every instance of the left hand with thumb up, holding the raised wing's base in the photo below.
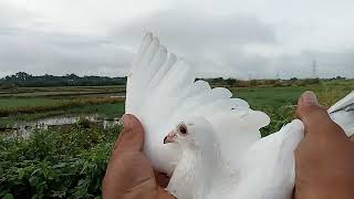
[[[168,178],[155,175],[152,164],[142,151],[144,129],[139,121],[126,114],[123,125],[103,179],[103,198],[173,199],[163,188],[167,186]]]

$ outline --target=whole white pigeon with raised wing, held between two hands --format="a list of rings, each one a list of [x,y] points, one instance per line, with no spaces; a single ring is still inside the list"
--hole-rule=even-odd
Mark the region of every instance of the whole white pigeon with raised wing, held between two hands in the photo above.
[[[173,175],[167,190],[179,199],[290,198],[301,121],[261,139],[259,129],[270,121],[264,113],[195,78],[156,38],[144,38],[128,75],[126,113],[142,122],[144,153],[155,169]],[[348,135],[353,104],[352,93],[330,108]]]

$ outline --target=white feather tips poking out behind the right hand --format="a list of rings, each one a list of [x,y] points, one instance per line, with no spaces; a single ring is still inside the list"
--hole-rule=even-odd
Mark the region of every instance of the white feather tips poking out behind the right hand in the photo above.
[[[352,136],[354,134],[354,92],[331,106],[329,114],[347,136]]]

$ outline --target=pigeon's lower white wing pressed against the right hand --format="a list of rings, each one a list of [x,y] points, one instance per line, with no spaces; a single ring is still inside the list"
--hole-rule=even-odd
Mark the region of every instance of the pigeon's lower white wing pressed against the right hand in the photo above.
[[[293,153],[302,138],[303,124],[294,119],[253,144],[242,158],[240,184],[225,198],[291,198],[295,179]]]

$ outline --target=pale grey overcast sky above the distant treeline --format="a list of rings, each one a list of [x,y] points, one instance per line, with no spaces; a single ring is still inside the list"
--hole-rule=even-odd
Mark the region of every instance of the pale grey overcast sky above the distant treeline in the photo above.
[[[0,77],[123,76],[146,31],[199,76],[354,77],[353,0],[0,0]]]

